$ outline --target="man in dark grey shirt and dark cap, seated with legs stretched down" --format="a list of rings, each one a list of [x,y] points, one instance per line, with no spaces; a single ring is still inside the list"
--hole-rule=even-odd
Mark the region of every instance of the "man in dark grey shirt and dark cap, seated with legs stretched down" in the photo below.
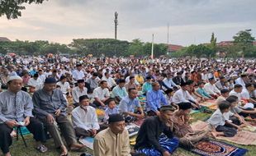
[[[34,112],[42,122],[55,141],[55,146],[61,149],[60,155],[68,155],[68,150],[59,133],[59,129],[70,149],[82,149],[83,145],[78,145],[73,126],[69,122],[65,108],[67,101],[61,90],[56,88],[56,80],[53,77],[45,79],[43,89],[39,89],[33,95]]]

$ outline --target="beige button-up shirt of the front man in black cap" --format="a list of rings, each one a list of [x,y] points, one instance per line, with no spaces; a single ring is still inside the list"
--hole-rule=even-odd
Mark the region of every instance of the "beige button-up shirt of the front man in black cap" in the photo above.
[[[115,135],[110,128],[100,131],[93,142],[94,156],[130,156],[129,133]]]

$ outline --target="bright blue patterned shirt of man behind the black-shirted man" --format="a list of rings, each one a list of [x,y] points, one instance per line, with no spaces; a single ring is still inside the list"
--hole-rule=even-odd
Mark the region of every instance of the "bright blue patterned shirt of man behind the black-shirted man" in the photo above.
[[[158,108],[161,107],[161,103],[164,105],[168,105],[167,99],[164,97],[162,90],[155,91],[151,89],[147,93],[147,102],[146,102],[146,110],[149,111],[157,111]]]

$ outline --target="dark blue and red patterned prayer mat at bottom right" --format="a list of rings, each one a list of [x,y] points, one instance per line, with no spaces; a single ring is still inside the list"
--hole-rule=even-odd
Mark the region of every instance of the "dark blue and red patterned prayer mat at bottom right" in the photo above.
[[[203,156],[242,156],[247,152],[247,149],[240,149],[234,145],[210,140],[199,141],[192,152]]]

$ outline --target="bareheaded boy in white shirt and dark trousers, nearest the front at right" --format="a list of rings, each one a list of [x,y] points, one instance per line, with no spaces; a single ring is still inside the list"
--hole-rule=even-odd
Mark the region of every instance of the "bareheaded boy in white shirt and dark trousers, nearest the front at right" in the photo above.
[[[213,131],[211,134],[216,136],[225,136],[225,137],[233,137],[236,135],[237,130],[240,130],[239,126],[236,126],[229,120],[227,120],[227,116],[230,114],[230,103],[227,101],[222,101],[219,103],[219,108],[214,112],[208,122],[213,126]]]

